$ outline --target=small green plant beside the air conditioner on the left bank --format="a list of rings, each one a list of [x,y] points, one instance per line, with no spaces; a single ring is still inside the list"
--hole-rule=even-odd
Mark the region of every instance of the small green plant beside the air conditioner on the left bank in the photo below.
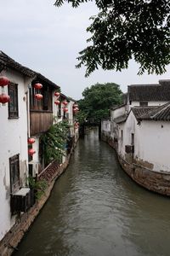
[[[48,187],[48,183],[45,179],[36,180],[34,177],[28,177],[28,182],[31,189],[34,189],[37,199],[45,193],[45,190]]]

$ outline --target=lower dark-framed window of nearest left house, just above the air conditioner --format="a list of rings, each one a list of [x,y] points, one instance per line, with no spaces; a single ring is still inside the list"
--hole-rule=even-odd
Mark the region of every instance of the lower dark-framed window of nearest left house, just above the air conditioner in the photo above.
[[[20,189],[20,162],[19,154],[9,158],[11,193]]]

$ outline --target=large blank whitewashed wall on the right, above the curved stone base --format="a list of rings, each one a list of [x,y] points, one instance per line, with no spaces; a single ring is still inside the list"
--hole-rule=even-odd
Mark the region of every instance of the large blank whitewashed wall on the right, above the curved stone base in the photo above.
[[[153,164],[154,171],[170,172],[170,122],[143,120],[139,134],[139,159]]]

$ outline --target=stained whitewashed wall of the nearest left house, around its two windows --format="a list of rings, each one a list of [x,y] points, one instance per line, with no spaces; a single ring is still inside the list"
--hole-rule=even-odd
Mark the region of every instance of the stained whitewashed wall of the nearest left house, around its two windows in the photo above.
[[[29,81],[17,72],[1,73],[14,84],[18,84],[19,119],[8,119],[8,103],[0,104],[0,240],[14,224],[10,214],[9,158],[20,154],[20,182],[26,185],[28,174],[27,111],[26,92]],[[0,89],[1,90],[1,89]],[[5,86],[8,94],[8,87]]]

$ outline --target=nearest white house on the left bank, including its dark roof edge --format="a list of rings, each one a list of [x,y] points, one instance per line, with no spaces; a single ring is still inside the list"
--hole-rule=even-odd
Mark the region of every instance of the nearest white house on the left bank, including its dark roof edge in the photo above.
[[[0,104],[0,240],[15,223],[11,196],[26,187],[28,177],[28,87],[35,73],[0,51],[0,76],[10,83],[5,93],[10,102]],[[25,191],[26,192],[26,191]]]

